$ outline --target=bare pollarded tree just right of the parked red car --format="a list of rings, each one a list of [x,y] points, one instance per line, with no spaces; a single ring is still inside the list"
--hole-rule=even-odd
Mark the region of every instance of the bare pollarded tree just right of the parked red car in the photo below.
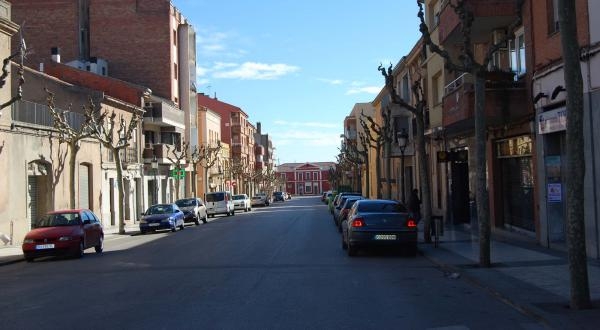
[[[93,138],[100,141],[112,154],[117,170],[117,189],[119,190],[119,234],[125,234],[125,187],[123,184],[123,160],[121,150],[129,147],[129,143],[141,121],[141,113],[134,110],[129,119],[123,114],[118,115],[114,110],[102,111],[96,108],[90,100],[86,110],[86,120],[89,120]]]

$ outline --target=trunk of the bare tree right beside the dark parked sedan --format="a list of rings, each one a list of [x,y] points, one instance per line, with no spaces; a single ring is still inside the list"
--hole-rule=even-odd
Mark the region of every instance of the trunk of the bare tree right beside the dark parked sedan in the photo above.
[[[431,182],[429,179],[429,168],[427,165],[427,153],[425,151],[425,121],[423,119],[423,105],[417,109],[417,155],[419,159],[419,178],[421,181],[421,217],[424,221],[423,239],[426,243],[431,243]]]

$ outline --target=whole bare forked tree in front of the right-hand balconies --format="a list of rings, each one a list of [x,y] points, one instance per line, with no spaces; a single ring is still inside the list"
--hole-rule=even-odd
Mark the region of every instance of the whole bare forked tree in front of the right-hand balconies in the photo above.
[[[487,52],[481,62],[477,62],[473,50],[473,42],[471,39],[471,27],[473,25],[473,13],[465,6],[465,0],[450,0],[448,5],[451,6],[456,15],[460,19],[462,45],[461,53],[458,57],[459,62],[455,62],[450,54],[441,49],[431,39],[429,28],[425,23],[423,4],[417,1],[419,6],[419,19],[421,24],[419,30],[423,36],[423,41],[429,47],[429,50],[440,55],[444,61],[446,69],[455,72],[470,73],[474,78],[474,93],[475,93],[475,190],[478,198],[477,203],[477,219],[479,220],[479,265],[482,267],[490,267],[490,206],[489,194],[487,191],[487,161],[486,161],[486,120],[485,120],[485,81],[488,73],[488,64],[501,46],[507,42],[509,36],[514,35],[515,29],[522,24],[522,5],[524,0],[515,0],[515,21],[507,27],[504,38],[500,38],[497,43],[490,44]]]

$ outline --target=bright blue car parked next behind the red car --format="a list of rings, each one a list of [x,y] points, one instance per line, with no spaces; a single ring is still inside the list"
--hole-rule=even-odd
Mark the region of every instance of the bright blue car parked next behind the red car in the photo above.
[[[150,206],[142,213],[140,219],[140,233],[143,235],[150,231],[169,229],[172,232],[177,228],[185,229],[183,211],[177,204],[156,204]]]

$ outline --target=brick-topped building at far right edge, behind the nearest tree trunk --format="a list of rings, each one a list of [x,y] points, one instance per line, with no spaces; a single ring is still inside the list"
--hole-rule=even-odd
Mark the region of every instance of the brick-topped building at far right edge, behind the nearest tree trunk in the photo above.
[[[583,77],[585,140],[584,212],[587,254],[600,258],[600,149],[596,127],[600,120],[597,105],[600,100],[600,3],[575,1],[577,10],[578,42],[581,47],[581,74]],[[547,247],[560,248],[566,243],[566,125],[569,116],[562,61],[561,31],[558,26],[557,1],[546,1],[541,6],[530,6],[528,24],[523,39],[531,46],[527,53],[527,68],[532,75],[535,121],[535,156],[539,219],[536,224],[538,242]]]

